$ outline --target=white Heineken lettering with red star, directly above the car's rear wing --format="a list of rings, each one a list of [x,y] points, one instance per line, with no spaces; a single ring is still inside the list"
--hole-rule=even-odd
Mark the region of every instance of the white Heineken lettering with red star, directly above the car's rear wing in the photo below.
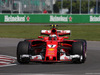
[[[71,22],[72,17],[68,16],[50,16],[50,22]]]

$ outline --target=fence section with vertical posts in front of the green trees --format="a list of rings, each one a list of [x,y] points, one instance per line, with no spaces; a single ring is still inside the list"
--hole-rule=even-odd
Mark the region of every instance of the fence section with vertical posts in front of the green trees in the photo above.
[[[59,0],[61,14],[98,14],[100,0]]]

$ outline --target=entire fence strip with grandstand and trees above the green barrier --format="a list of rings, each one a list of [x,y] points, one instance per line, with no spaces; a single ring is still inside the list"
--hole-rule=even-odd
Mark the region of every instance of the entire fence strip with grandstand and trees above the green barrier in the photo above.
[[[99,0],[0,0],[0,13],[98,14]]]

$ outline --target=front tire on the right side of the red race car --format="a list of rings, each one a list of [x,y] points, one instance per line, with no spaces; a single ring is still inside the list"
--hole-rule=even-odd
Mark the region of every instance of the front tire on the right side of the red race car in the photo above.
[[[73,55],[80,55],[80,58],[72,59],[73,63],[84,63],[86,61],[86,51],[85,46],[82,42],[74,42],[72,44]]]

